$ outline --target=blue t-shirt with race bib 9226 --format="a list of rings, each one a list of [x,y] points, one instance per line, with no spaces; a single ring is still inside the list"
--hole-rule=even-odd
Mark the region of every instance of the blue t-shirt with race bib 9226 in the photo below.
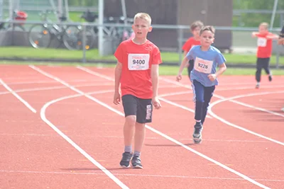
[[[217,67],[226,62],[222,53],[213,46],[209,50],[202,51],[201,46],[192,47],[186,55],[187,59],[194,59],[194,67],[190,73],[190,80],[199,81],[203,86],[218,85],[218,80],[210,81],[209,74],[215,74]]]

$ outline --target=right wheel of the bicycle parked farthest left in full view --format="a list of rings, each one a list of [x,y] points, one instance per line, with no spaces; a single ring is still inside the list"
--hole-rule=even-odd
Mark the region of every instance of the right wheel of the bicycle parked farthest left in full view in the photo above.
[[[81,29],[74,25],[67,26],[63,34],[63,43],[68,50],[80,50],[82,40],[80,39]]]

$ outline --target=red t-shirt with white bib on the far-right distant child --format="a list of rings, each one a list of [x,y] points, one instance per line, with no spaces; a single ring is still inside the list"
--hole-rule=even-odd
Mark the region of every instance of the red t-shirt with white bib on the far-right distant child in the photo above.
[[[273,35],[272,33],[266,33],[265,35],[258,34],[257,39],[257,57],[258,58],[269,58],[272,53],[272,40],[266,39],[266,36]]]

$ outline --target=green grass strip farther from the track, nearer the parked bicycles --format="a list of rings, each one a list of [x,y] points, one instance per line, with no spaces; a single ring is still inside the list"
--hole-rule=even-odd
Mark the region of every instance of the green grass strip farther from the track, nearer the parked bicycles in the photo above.
[[[163,62],[180,62],[179,54],[175,52],[161,52]],[[65,49],[34,49],[33,47],[0,47],[0,57],[42,58],[42,59],[82,59],[81,50]],[[255,55],[224,54],[226,61],[232,64],[256,64]],[[116,60],[113,55],[101,57],[97,49],[86,52],[86,59]],[[271,57],[271,65],[275,65],[276,58]],[[284,65],[284,57],[279,62]]]

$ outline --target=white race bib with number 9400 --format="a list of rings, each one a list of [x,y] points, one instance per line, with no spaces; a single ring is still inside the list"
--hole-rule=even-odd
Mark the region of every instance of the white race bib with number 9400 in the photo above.
[[[149,54],[129,54],[129,70],[149,69]]]

